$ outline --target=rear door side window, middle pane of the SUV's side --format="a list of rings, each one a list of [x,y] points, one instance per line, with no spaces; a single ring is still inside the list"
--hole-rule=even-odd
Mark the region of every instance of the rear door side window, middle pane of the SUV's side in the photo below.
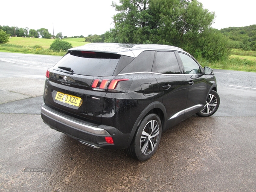
[[[152,72],[163,74],[180,74],[180,67],[175,53],[171,51],[157,51]]]

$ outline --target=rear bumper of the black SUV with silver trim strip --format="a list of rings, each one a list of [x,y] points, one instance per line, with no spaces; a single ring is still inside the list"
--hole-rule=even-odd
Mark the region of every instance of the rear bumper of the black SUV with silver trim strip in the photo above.
[[[41,117],[50,128],[67,134],[85,145],[94,148],[113,149],[128,147],[127,142],[130,134],[123,134],[114,127],[76,119],[55,111],[45,104],[41,108]],[[105,137],[112,137],[114,144],[107,143]]]

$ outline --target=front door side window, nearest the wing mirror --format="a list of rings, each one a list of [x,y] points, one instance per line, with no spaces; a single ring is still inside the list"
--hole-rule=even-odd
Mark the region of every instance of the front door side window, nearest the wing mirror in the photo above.
[[[192,59],[191,57],[189,57],[189,55],[180,53],[180,59],[183,63],[184,66],[184,70],[186,74],[200,74],[201,70],[199,65],[195,62],[194,59]]]

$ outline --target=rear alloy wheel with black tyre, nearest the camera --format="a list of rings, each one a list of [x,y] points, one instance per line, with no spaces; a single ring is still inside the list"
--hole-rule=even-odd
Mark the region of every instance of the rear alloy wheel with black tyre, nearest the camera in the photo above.
[[[162,123],[156,114],[152,113],[140,123],[128,153],[134,158],[145,161],[157,151],[162,133]]]

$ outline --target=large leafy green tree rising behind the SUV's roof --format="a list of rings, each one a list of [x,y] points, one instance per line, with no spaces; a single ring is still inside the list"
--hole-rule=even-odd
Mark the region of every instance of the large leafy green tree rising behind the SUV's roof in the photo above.
[[[204,9],[197,0],[119,0],[119,3],[112,3],[119,13],[113,16],[115,27],[105,33],[105,42],[174,45],[209,60],[223,58],[223,54],[219,57],[203,54],[206,44],[202,40],[207,42],[207,35],[214,40],[223,36],[210,28],[215,13]],[[225,49],[227,45],[217,47]]]

